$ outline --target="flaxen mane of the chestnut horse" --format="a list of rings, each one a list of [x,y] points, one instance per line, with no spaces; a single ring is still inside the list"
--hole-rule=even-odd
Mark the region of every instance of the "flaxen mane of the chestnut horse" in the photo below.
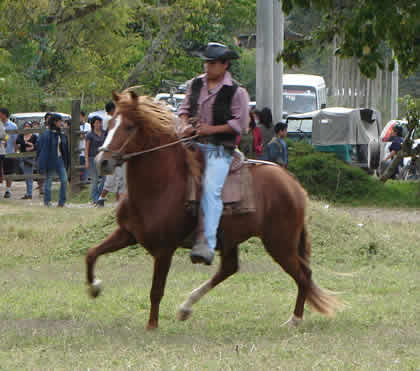
[[[162,104],[153,102],[149,96],[138,96],[132,90],[125,90],[119,94],[113,93],[113,97],[117,103],[118,112],[136,125],[141,125],[146,136],[151,138],[166,136],[173,141],[179,139],[177,118]],[[189,171],[199,183],[202,164],[196,153],[185,146],[183,148]]]

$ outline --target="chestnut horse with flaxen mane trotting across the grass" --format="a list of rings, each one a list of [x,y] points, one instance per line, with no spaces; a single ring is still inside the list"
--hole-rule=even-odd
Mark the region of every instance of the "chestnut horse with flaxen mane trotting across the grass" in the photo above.
[[[200,162],[196,153],[178,142],[174,117],[162,106],[132,91],[114,93],[114,101],[115,126],[96,162],[101,171],[110,173],[123,160],[127,161],[127,196],[118,205],[117,229],[100,245],[88,250],[87,283],[90,295],[96,297],[101,289],[93,273],[96,259],[140,243],[154,258],[147,325],[152,329],[158,327],[159,304],[172,256],[197,227],[197,218],[185,203],[188,177],[191,173],[199,176]],[[171,145],[174,142],[178,143]],[[305,300],[318,312],[332,315],[338,302],[316,286],[309,268],[305,191],[279,166],[254,165],[251,174],[256,212],[222,217],[219,270],[192,291],[181,305],[178,318],[187,319],[194,303],[237,272],[238,246],[251,236],[261,238],[267,252],[297,284],[295,309],[286,324],[297,325],[302,320]]]

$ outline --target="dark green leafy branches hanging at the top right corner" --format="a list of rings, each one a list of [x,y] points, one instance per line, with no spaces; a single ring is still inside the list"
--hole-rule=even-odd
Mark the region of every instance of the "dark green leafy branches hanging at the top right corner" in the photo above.
[[[393,70],[394,59],[404,75],[420,64],[420,6],[416,0],[283,0],[283,11],[314,8],[323,15],[320,26],[304,40],[290,41],[281,58],[289,66],[302,63],[302,51],[338,40],[336,55],[357,57],[360,71],[369,78],[376,67]],[[394,56],[387,63],[390,50]]]

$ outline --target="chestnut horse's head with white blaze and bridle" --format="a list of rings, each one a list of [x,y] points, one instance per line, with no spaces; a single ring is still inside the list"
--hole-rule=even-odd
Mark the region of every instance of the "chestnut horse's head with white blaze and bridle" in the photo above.
[[[95,160],[100,174],[112,174],[127,155],[157,146],[163,138],[175,137],[173,115],[151,98],[124,91],[114,92],[113,99],[116,113]]]

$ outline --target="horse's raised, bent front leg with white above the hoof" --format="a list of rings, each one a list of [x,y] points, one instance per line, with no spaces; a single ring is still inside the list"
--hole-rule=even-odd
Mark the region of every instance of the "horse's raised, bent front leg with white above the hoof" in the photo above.
[[[92,247],[88,250],[86,255],[86,275],[87,284],[89,286],[88,292],[92,297],[97,297],[101,292],[100,280],[95,280],[93,273],[96,259],[106,253],[120,250],[124,247],[134,245],[136,239],[131,233],[118,227],[104,242],[96,247]]]

